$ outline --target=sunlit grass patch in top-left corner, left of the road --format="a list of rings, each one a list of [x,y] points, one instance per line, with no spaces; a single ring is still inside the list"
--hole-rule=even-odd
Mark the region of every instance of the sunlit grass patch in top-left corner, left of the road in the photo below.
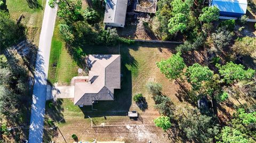
[[[6,1],[7,9],[13,20],[21,14],[25,16],[22,23],[27,27],[27,37],[38,46],[46,0],[10,0]]]

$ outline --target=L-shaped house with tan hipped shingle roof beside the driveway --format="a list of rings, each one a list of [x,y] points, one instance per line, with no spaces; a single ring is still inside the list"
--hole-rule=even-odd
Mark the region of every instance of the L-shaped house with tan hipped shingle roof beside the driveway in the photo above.
[[[121,56],[89,55],[89,78],[75,81],[74,105],[92,105],[98,100],[114,100],[114,89],[121,89]]]

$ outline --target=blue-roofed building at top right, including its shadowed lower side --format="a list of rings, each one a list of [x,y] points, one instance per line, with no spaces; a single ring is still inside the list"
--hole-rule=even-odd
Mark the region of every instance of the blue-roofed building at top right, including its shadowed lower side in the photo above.
[[[246,13],[247,0],[210,0],[209,6],[217,6],[221,16],[239,18]]]

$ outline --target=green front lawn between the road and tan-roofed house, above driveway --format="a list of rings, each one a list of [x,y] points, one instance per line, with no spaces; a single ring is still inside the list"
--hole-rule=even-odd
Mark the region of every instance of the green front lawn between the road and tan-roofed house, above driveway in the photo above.
[[[51,83],[59,82],[61,85],[69,85],[70,80],[77,76],[78,66],[65,48],[65,41],[61,37],[58,24],[59,19],[55,24],[52,37],[48,79]]]

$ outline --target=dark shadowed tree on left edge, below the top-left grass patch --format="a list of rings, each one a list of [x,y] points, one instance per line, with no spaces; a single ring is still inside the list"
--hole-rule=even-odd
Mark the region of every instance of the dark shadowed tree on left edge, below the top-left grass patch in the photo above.
[[[10,18],[9,13],[2,10],[0,10],[0,31],[1,50],[13,46],[25,38],[25,28],[22,24],[16,24]]]

